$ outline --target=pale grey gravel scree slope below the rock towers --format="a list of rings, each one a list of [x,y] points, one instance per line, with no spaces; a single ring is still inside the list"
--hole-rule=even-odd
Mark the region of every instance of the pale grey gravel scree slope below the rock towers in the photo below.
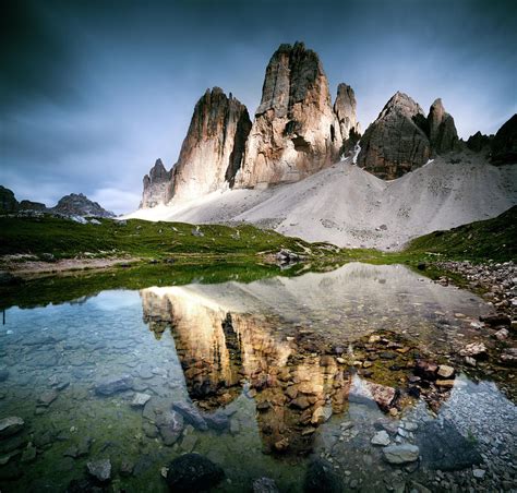
[[[457,163],[459,160],[459,163]],[[383,181],[350,158],[268,190],[227,190],[128,217],[194,224],[249,221],[308,241],[396,250],[437,229],[495,217],[517,204],[517,166],[449,154]]]

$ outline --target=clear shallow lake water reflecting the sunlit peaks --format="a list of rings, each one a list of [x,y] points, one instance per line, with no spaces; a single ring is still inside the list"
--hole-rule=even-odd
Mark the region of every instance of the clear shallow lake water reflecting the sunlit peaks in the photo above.
[[[0,441],[0,485],[64,491],[86,476],[86,462],[109,458],[113,488],[166,491],[161,468],[197,452],[224,468],[220,491],[248,491],[263,476],[302,491],[315,456],[344,486],[363,491],[502,488],[515,480],[517,412],[498,387],[457,368],[452,389],[409,392],[414,359],[454,359],[480,340],[472,324],[486,311],[468,291],[362,264],[9,309],[0,419],[21,417],[25,426]],[[122,388],[99,394],[113,380]],[[385,406],[380,388],[400,396]],[[135,394],[149,397],[144,407],[132,406]],[[173,406],[182,425],[171,431]],[[419,445],[419,467],[383,460],[370,443],[380,430]],[[440,433],[455,437],[441,459],[430,438]],[[465,467],[469,454],[483,479],[471,465],[437,476]]]

